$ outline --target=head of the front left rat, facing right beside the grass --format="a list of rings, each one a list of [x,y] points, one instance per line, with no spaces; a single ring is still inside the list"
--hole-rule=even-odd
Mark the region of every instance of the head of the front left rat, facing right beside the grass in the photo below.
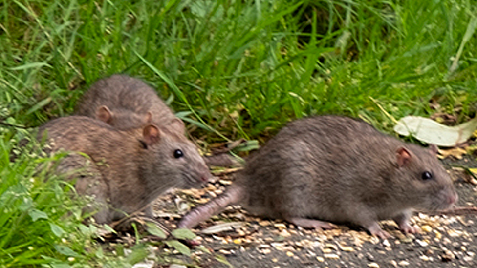
[[[150,187],[198,187],[212,178],[196,146],[180,135],[148,124],[140,142]]]

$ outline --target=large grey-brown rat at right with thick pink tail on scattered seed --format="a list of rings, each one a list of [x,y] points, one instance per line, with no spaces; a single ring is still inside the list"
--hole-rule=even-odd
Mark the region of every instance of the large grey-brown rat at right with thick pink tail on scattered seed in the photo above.
[[[457,201],[453,182],[425,149],[342,116],[293,121],[251,154],[222,195],[178,223],[190,228],[229,204],[310,228],[350,223],[388,238],[378,221],[393,219],[404,233],[413,210],[445,209]]]

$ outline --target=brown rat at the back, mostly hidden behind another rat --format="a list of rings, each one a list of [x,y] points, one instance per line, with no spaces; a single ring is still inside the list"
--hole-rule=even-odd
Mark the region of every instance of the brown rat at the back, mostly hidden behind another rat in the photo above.
[[[184,134],[184,122],[151,86],[127,75],[112,75],[93,83],[76,106],[76,115],[89,116],[118,129],[154,123]]]

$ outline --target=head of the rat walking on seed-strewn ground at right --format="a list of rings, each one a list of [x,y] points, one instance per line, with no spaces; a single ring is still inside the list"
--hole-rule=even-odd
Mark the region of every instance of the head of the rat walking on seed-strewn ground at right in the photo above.
[[[412,208],[445,209],[455,204],[457,193],[449,174],[436,159],[436,147],[424,149],[414,144],[395,151],[399,186]]]

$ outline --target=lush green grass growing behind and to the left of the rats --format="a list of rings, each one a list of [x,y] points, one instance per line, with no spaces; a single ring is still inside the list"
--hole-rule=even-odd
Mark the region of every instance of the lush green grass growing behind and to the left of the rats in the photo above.
[[[444,112],[460,123],[477,108],[475,14],[469,0],[2,0],[0,119],[32,127],[68,115],[91,83],[124,72],[154,85],[207,142],[223,140],[217,132],[264,141],[312,114],[360,116],[388,132],[393,122],[383,110],[396,119]],[[22,187],[43,179],[25,171],[41,157],[7,161],[24,132],[1,127],[2,187],[6,178]],[[45,222],[58,224],[51,209]],[[62,259],[54,243],[34,247]]]

